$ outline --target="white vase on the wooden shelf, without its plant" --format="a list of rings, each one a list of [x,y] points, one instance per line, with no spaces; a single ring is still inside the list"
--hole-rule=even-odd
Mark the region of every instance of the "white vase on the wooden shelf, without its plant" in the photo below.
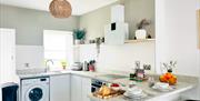
[[[136,30],[136,38],[137,39],[146,39],[147,38],[147,31],[144,29]]]

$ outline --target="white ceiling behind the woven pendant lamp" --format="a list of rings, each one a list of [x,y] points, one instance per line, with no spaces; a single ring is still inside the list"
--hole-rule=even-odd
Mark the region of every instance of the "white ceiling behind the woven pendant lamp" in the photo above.
[[[68,0],[72,6],[72,14],[81,16],[101,7],[113,3],[118,0]],[[21,8],[49,11],[51,0],[0,0],[2,4],[16,6]]]

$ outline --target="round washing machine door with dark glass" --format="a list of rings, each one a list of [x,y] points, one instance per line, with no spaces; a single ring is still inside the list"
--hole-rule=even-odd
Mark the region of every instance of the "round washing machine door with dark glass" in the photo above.
[[[47,98],[49,94],[47,92],[47,87],[44,85],[34,85],[31,87],[26,93],[26,101],[48,101]]]

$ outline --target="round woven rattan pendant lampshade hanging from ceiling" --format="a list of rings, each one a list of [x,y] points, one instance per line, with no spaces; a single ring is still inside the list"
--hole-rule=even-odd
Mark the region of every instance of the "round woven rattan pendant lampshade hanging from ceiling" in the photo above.
[[[49,10],[54,18],[68,18],[72,12],[71,4],[67,0],[52,0]]]

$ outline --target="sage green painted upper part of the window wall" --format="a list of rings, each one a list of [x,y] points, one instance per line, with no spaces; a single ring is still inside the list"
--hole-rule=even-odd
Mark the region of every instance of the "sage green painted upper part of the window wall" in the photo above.
[[[42,46],[43,30],[72,31],[79,27],[79,17],[56,19],[49,12],[0,4],[0,28],[17,31],[17,44]]]

